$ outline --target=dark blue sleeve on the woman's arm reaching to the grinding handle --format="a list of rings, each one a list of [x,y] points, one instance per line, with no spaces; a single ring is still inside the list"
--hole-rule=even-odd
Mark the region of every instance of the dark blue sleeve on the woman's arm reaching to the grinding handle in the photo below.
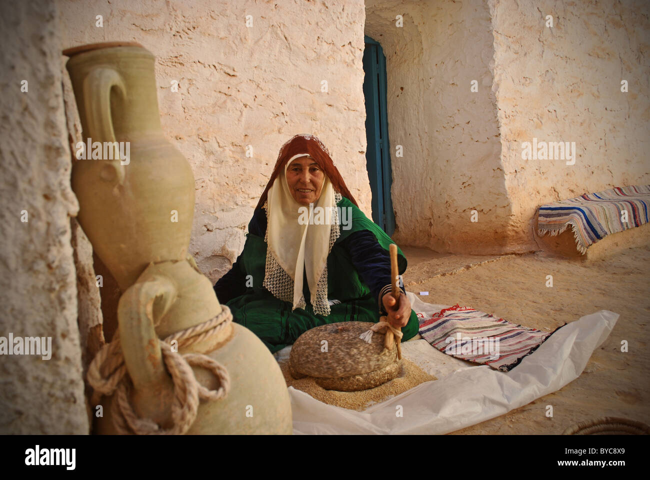
[[[391,284],[391,257],[384,250],[376,237],[368,230],[350,233],[343,240],[343,247],[348,250],[352,264],[361,280],[370,288],[372,296],[379,303],[382,288]],[[404,289],[402,288],[402,291]],[[383,308],[380,308],[383,310]]]

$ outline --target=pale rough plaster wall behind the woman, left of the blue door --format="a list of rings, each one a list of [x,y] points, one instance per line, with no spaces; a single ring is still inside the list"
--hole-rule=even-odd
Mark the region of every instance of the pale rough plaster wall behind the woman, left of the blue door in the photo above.
[[[363,0],[59,5],[65,47],[129,40],[157,57],[162,129],[194,171],[190,252],[213,282],[242,250],[279,148],[296,133],[324,142],[370,216]],[[97,15],[103,28],[96,27]],[[253,27],[246,27],[247,15]],[[321,92],[322,80],[328,93]]]

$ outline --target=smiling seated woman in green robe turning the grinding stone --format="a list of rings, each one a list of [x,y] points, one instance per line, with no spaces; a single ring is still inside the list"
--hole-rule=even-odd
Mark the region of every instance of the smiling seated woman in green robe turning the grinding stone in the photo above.
[[[214,291],[272,352],[318,325],[380,315],[409,340],[418,321],[408,298],[386,295],[391,243],[359,210],[320,140],[296,135],[279,152],[244,250]],[[401,250],[398,267],[406,270]]]

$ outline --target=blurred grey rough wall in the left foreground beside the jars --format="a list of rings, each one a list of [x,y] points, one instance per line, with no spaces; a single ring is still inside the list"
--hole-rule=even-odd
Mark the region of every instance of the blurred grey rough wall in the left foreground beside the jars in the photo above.
[[[0,433],[88,433],[70,245],[78,204],[53,3],[3,8],[0,44],[0,336],[52,338],[49,360],[0,356]]]

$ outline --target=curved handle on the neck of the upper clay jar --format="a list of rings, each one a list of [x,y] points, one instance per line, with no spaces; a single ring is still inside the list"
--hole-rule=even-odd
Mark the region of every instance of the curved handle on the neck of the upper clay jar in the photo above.
[[[83,81],[83,99],[86,105],[86,122],[88,123],[88,137],[99,142],[111,142],[108,149],[109,158],[102,158],[102,168],[99,176],[105,181],[114,181],[122,184],[124,181],[124,165],[120,157],[113,128],[112,114],[110,111],[110,93],[116,88],[122,100],[126,100],[126,87],[120,73],[107,66],[93,68]],[[105,151],[102,148],[102,155]],[[92,158],[86,152],[86,158]]]

